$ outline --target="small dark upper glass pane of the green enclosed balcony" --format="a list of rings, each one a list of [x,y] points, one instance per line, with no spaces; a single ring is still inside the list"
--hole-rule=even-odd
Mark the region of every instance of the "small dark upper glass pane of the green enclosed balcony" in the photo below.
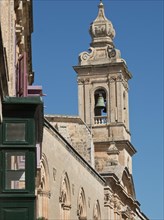
[[[25,141],[25,123],[6,123],[6,141]]]

